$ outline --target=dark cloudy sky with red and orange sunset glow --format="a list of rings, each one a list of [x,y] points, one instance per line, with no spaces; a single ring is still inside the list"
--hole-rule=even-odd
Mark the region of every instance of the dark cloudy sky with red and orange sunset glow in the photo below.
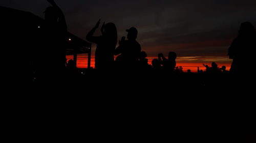
[[[99,18],[102,23],[116,24],[119,39],[126,36],[127,28],[135,26],[139,32],[137,41],[149,60],[160,52],[167,56],[168,51],[175,51],[177,66],[184,67],[184,63],[195,67],[210,62],[230,65],[227,49],[237,36],[241,22],[256,25],[255,0],[55,2],[66,15],[68,31],[78,37],[85,39]],[[0,0],[0,5],[29,11],[42,18],[50,6],[46,0]]]

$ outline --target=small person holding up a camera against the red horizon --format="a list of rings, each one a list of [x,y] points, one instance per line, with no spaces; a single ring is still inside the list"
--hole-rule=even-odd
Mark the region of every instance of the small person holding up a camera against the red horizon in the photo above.
[[[164,72],[166,73],[174,72],[174,69],[176,67],[176,58],[177,54],[173,51],[169,52],[168,59],[166,59],[162,53],[158,54],[158,60],[163,66]]]

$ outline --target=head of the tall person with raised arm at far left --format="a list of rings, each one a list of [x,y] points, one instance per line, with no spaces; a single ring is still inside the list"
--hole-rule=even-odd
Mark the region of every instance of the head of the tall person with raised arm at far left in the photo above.
[[[45,20],[51,23],[58,21],[58,12],[54,7],[48,7],[45,11]]]

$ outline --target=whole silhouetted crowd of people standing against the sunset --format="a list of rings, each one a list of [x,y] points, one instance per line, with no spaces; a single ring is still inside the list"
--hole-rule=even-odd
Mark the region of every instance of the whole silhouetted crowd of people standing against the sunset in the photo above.
[[[48,1],[52,4],[45,11],[45,25],[39,28],[40,38],[36,39],[39,47],[35,49],[34,72],[36,77],[42,80],[61,79],[65,75],[75,74],[76,65],[72,61],[67,63],[65,59],[65,38],[67,33],[67,24],[65,16],[54,1]],[[141,46],[137,41],[138,30],[131,27],[126,30],[127,36],[122,37],[117,46],[117,28],[112,22],[103,22],[100,31],[101,36],[94,36],[100,25],[100,19],[92,30],[87,34],[86,39],[89,42],[97,44],[95,51],[95,69],[100,73],[112,73],[114,71],[126,72],[128,74],[173,74],[183,73],[182,67],[176,67],[177,54],[170,51],[168,58],[162,53],[158,54],[158,59],[153,59],[148,64],[147,54],[141,51]],[[233,59],[230,73],[244,74],[255,69],[255,28],[250,22],[241,24],[239,36],[234,39],[228,49],[230,59]],[[47,36],[47,37],[46,37]],[[125,39],[127,38],[127,39]],[[44,52],[42,48],[50,49],[50,52]],[[116,59],[114,56],[116,55]],[[44,60],[42,60],[44,59]],[[205,66],[205,73],[229,73],[226,67],[218,67],[212,62],[211,67]],[[251,67],[251,70],[245,70],[245,67]],[[90,67],[89,67],[90,69]],[[73,70],[73,72],[71,72]],[[190,70],[187,73],[191,73]],[[204,73],[198,68],[198,73]],[[58,75],[62,75],[58,77]],[[126,74],[127,75],[127,74]]]

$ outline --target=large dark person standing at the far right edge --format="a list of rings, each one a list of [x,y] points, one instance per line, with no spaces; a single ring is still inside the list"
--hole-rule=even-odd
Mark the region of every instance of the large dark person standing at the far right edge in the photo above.
[[[255,70],[256,31],[250,22],[243,22],[238,37],[233,40],[229,49],[229,59],[233,59],[231,73],[245,73]],[[250,71],[246,70],[250,68]]]

